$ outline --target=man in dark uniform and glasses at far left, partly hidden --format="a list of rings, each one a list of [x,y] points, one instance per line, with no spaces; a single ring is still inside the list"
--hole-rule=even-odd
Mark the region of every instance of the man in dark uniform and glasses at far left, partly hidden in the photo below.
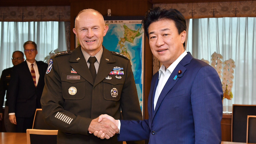
[[[12,53],[12,64],[13,66],[16,66],[24,61],[24,54],[20,51],[15,51]],[[3,106],[4,104],[4,95],[6,91],[6,101],[5,101],[5,107],[4,107],[4,126],[6,132],[16,132],[16,125],[12,124],[9,121],[9,115],[8,115],[8,98],[9,98],[9,91],[8,86],[11,79],[11,73],[12,68],[4,69],[1,75],[0,79],[0,104]],[[0,108],[0,120],[3,118],[3,109]]]

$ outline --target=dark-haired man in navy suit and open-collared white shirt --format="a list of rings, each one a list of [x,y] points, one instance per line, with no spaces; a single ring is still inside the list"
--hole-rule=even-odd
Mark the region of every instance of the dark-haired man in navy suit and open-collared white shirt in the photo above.
[[[162,63],[153,76],[148,97],[149,119],[114,120],[118,140],[149,143],[220,144],[222,86],[214,68],[186,52],[186,21],[175,9],[155,7],[146,13],[143,28],[153,55]],[[121,123],[121,124],[120,124]],[[104,138],[102,131],[94,135]]]

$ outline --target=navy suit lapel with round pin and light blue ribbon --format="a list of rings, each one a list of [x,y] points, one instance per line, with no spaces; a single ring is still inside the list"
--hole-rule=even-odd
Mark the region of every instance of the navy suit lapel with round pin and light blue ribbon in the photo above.
[[[179,79],[182,78],[182,76],[184,75],[186,68],[185,65],[187,65],[188,63],[190,63],[190,61],[193,59],[192,55],[190,54],[190,52],[188,52],[188,54],[179,62],[179,64],[176,66],[176,68],[173,70],[171,76],[169,77],[168,81],[166,82],[166,84],[164,85],[164,88],[162,90],[162,92],[160,93],[160,96],[157,100],[156,103],[156,108],[155,111],[152,115],[152,117],[155,116],[160,104],[162,103],[162,101],[164,100],[164,97],[166,96],[166,94],[172,89],[172,87],[178,83]],[[182,73],[179,74],[178,71],[181,70]],[[180,78],[177,77],[176,79],[174,79],[175,76],[181,76]],[[155,88],[156,89],[156,88]],[[156,91],[156,90],[155,90]],[[154,99],[153,99],[154,100]],[[154,105],[153,105],[154,108]],[[153,119],[153,118],[152,118]]]

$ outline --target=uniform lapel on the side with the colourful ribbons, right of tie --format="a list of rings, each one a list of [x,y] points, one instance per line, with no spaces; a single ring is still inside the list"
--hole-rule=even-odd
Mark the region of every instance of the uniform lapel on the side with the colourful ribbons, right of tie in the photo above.
[[[108,76],[108,74],[115,67],[115,65],[112,64],[114,62],[116,62],[116,60],[114,60],[112,54],[107,49],[105,49],[105,47],[103,47],[103,53],[100,59],[100,66],[96,75],[94,86],[99,84],[103,79],[106,78],[106,76]]]

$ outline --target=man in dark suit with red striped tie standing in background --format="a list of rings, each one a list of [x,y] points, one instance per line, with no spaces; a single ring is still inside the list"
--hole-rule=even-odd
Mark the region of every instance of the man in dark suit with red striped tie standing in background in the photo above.
[[[44,89],[44,74],[47,64],[36,61],[36,43],[23,45],[26,61],[13,67],[9,86],[9,120],[17,124],[17,132],[32,128],[36,108],[41,108],[40,99]]]

